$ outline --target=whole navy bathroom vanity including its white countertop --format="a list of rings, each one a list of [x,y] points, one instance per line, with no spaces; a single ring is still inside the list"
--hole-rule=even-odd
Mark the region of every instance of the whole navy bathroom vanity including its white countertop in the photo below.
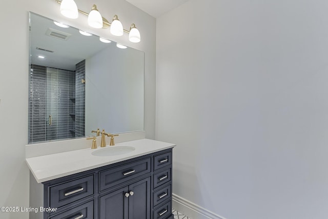
[[[142,139],[106,149],[126,146],[134,150],[102,156],[104,149],[81,149],[27,158],[30,207],[38,210],[30,219],[173,218],[175,145]]]

